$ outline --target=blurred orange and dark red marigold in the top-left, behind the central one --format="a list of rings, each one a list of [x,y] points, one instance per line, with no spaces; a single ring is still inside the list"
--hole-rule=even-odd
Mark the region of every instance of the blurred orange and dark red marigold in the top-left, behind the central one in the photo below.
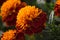
[[[13,26],[16,24],[16,16],[22,7],[25,7],[27,4],[21,2],[20,0],[7,0],[3,3],[1,7],[2,21],[5,22],[8,26]]]

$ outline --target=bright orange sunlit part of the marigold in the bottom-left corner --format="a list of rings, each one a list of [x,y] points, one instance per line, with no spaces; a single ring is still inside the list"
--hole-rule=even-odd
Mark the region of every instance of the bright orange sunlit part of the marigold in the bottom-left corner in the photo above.
[[[15,39],[16,30],[9,30],[3,33],[1,40],[13,40]]]

